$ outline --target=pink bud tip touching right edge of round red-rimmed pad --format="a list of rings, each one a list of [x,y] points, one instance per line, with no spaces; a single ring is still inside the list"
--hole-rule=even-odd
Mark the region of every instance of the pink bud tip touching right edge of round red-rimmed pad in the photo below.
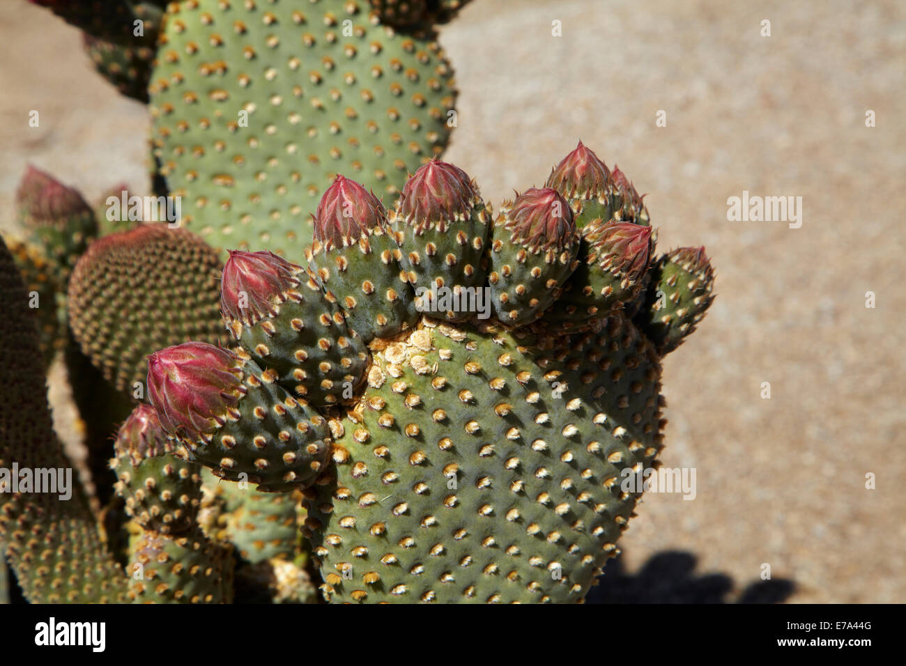
[[[302,266],[273,252],[231,250],[220,280],[220,306],[226,317],[251,325],[275,314],[287,290],[299,285]]]

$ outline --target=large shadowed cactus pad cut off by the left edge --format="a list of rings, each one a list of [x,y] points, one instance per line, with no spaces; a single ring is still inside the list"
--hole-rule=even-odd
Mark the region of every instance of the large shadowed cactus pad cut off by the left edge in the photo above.
[[[5,308],[0,317],[0,468],[72,472],[53,432],[27,294],[2,241],[0,303]],[[33,603],[120,602],[126,589],[122,570],[101,542],[78,478],[71,480],[68,499],[24,487],[0,492],[0,542],[7,561]]]

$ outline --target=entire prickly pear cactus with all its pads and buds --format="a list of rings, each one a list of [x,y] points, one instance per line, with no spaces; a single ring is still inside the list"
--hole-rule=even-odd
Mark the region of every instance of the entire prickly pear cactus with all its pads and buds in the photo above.
[[[713,300],[703,248],[655,256],[643,198],[581,142],[496,216],[439,161],[434,28],[467,0],[33,2],[149,101],[154,189],[188,229],[26,174],[0,468],[66,465],[20,275],[60,304],[43,349],[76,341],[77,397],[114,405],[100,372],[141,401],[147,369],[151,403],[116,433],[100,525],[81,488],[0,494],[26,597],[581,601],[639,497],[620,479],[657,464],[660,360]],[[122,406],[82,402],[111,434]]]

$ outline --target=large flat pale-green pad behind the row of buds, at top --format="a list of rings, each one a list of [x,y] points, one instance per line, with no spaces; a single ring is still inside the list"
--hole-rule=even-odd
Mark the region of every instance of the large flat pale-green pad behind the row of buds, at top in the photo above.
[[[188,227],[293,258],[335,174],[398,191],[448,140],[455,90],[434,38],[381,24],[366,0],[171,3],[150,111]]]

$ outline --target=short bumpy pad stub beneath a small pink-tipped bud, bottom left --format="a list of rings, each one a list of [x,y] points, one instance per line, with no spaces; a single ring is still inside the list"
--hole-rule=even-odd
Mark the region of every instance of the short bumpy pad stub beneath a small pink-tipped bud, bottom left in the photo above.
[[[200,532],[165,536],[144,532],[130,540],[132,603],[230,603],[233,554]]]

